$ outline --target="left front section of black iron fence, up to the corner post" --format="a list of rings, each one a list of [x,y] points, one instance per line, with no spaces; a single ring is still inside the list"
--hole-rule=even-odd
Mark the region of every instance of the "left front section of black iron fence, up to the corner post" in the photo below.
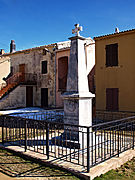
[[[87,168],[89,127],[16,115],[1,116],[2,143],[45,154],[47,159],[62,159]]]

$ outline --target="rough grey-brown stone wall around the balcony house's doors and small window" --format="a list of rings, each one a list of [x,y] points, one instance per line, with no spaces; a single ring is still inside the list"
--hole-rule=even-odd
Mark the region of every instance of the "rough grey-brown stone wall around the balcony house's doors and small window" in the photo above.
[[[53,46],[47,47],[52,51]],[[44,48],[30,49],[10,55],[13,73],[19,71],[19,65],[25,64],[25,73],[37,74],[37,86],[33,89],[33,105],[41,106],[41,88],[48,88],[48,106],[55,106],[55,57],[50,52],[43,54]],[[47,61],[47,73],[42,74],[42,61]]]

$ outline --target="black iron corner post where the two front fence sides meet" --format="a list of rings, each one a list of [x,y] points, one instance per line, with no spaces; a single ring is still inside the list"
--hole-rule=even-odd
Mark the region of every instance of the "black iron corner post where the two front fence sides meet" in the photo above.
[[[87,127],[87,172],[90,171],[90,128]]]

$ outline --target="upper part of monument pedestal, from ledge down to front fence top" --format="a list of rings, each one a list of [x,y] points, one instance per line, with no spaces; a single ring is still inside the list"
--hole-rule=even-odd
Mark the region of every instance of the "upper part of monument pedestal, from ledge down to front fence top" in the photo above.
[[[65,92],[64,99],[64,123],[72,125],[92,125],[92,98],[90,92],[86,94]]]

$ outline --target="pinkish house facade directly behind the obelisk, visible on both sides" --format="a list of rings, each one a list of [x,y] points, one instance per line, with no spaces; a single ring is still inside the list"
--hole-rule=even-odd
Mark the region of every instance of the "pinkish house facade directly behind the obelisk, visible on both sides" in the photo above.
[[[85,63],[89,80],[89,90],[94,93],[94,65],[95,65],[95,42],[91,38],[85,38]],[[63,107],[61,94],[66,91],[68,63],[70,61],[70,41],[57,44],[56,50],[56,107]]]

